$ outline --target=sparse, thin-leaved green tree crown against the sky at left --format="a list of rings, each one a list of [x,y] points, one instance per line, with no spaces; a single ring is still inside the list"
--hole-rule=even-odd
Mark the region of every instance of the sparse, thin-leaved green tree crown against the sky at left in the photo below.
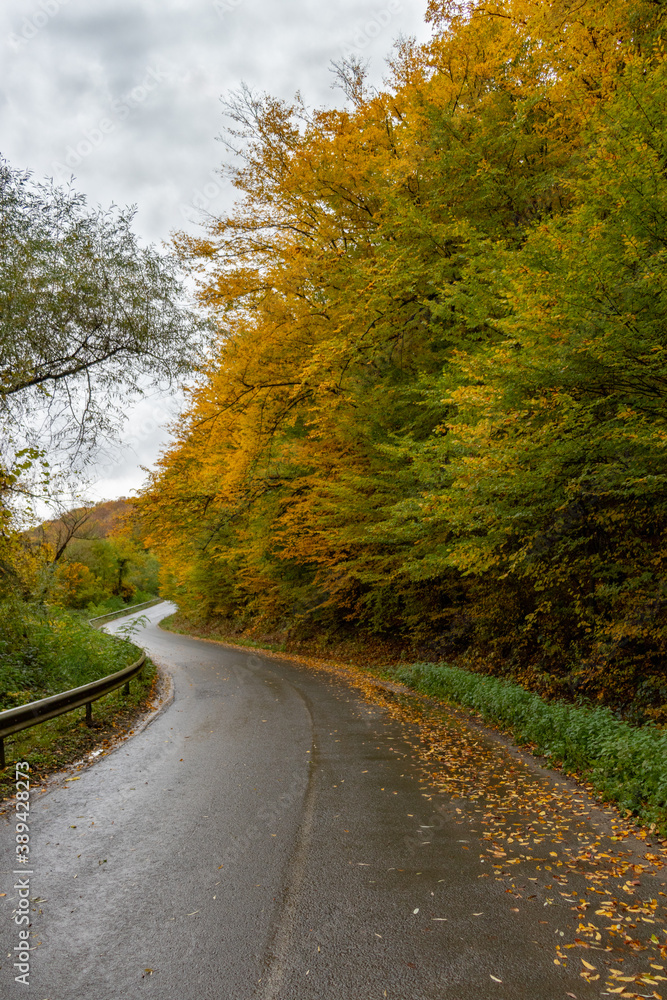
[[[0,160],[6,436],[29,435],[41,410],[51,451],[76,461],[118,422],[128,394],[140,396],[147,379],[170,382],[198,361],[202,328],[183,307],[174,258],[139,245],[133,215],[91,210],[71,188],[36,183]]]

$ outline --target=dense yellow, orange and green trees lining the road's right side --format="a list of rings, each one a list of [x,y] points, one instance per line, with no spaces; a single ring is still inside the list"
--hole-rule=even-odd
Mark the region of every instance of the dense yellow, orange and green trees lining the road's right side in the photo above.
[[[650,711],[667,689],[663,10],[428,16],[386,92],[230,102],[242,197],[177,239],[217,348],[144,524],[191,615],[477,650]]]

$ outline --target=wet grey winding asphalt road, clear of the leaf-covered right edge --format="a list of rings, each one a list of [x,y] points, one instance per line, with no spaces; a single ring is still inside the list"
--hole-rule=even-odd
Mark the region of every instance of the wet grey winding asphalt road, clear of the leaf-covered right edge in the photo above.
[[[397,722],[342,682],[160,630],[171,610],[151,608],[136,641],[173,676],[173,702],[33,797],[29,987],[7,957],[0,820],[3,1000],[567,995],[553,920],[510,914],[453,808],[429,834]]]

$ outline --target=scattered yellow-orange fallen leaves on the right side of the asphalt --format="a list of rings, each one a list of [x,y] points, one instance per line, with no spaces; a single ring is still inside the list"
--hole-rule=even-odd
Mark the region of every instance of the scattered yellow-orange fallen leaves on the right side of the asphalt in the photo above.
[[[416,725],[418,731],[414,739],[410,737],[415,757],[428,787],[438,788],[443,795],[437,802],[437,812],[448,816],[450,804],[459,800],[455,806],[460,817],[457,823],[474,823],[474,832],[482,835],[486,855],[482,860],[493,869],[483,873],[487,877],[495,875],[498,882],[521,877],[542,883],[547,891],[558,884],[559,899],[543,897],[542,901],[545,909],[561,905],[577,911],[578,926],[575,922],[567,933],[570,940],[561,942],[564,947],[614,950],[615,954],[620,951],[618,960],[625,956],[625,971],[634,973],[629,978],[637,984],[641,982],[639,962],[648,965],[667,959],[667,941],[663,937],[667,935],[667,896],[657,884],[652,893],[651,883],[641,889],[645,878],[653,879],[667,870],[667,839],[659,838],[655,830],[638,829],[629,818],[630,811],[623,817],[610,803],[604,804],[604,813],[593,812],[592,788],[576,784],[580,776],[573,776],[575,782],[563,781],[564,775],[558,778],[556,774],[536,778],[527,760],[510,759],[504,746],[480,740],[465,722],[423,703],[419,695],[406,695],[399,702],[376,689],[363,672],[349,665],[294,658],[313,670],[349,681],[369,702],[381,706],[401,724]],[[432,802],[434,796],[424,794],[424,798]],[[633,838],[646,841],[652,853],[640,857]],[[463,843],[463,838],[459,842]],[[540,844],[544,845],[541,849],[537,846]],[[520,865],[521,875],[512,876],[510,865]],[[664,884],[661,889],[665,889]],[[584,892],[592,895],[582,895],[577,903],[577,895]],[[640,893],[646,898],[641,898]],[[602,918],[598,924],[596,918]],[[539,924],[549,922],[540,920]],[[582,978],[589,984],[600,980],[595,966],[583,968]],[[604,978],[608,975],[605,972]],[[643,982],[653,986],[655,980]],[[619,985],[618,979],[606,983],[608,989],[614,988],[615,995]],[[628,997],[639,995],[630,983],[628,987]],[[576,994],[567,995],[576,1000]],[[654,1000],[660,996],[656,992],[642,995]]]

